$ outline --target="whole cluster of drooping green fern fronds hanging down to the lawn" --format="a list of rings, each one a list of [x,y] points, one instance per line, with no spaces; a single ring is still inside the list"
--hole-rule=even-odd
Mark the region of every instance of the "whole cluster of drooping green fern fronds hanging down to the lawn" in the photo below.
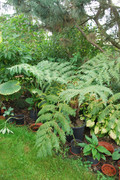
[[[36,137],[39,157],[52,155],[53,151],[58,152],[61,143],[66,142],[66,134],[71,133],[69,115],[75,115],[75,110],[62,102],[57,102],[56,105],[46,104],[39,111],[36,122],[44,123]]]

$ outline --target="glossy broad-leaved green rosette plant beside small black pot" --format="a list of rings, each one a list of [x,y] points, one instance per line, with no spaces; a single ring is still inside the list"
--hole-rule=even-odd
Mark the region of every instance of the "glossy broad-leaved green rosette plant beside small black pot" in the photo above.
[[[88,136],[85,136],[85,138],[89,144],[79,143],[79,145],[83,147],[83,154],[84,156],[87,156],[88,160],[92,161],[96,159],[98,162],[101,158],[104,160],[106,159],[105,154],[111,155],[105,147],[99,146],[98,139],[95,134],[92,134],[92,138]]]

